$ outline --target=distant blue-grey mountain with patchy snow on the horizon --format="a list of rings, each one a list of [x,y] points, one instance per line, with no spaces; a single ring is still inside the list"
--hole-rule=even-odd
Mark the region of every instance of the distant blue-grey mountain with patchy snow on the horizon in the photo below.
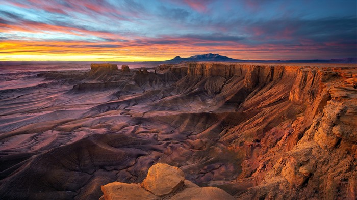
[[[208,54],[203,54],[203,55],[194,55],[191,57],[187,58],[181,58],[180,56],[176,56],[175,58],[171,60],[167,60],[167,62],[183,62],[183,61],[230,61],[230,62],[239,62],[239,61],[244,61],[240,59],[232,59],[227,56],[222,56],[219,54],[213,54],[213,53],[208,53]]]

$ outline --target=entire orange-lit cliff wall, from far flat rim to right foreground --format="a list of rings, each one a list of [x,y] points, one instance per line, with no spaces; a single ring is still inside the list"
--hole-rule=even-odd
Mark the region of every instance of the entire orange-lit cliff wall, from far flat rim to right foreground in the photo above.
[[[355,67],[189,63],[187,74],[241,77],[233,96],[252,117],[220,134],[244,160],[238,180],[254,179],[238,199],[357,198]]]

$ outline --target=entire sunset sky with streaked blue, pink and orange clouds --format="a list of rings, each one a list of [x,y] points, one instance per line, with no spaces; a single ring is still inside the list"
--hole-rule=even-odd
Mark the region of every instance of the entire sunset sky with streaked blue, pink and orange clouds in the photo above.
[[[1,61],[357,57],[357,1],[0,0]]]

